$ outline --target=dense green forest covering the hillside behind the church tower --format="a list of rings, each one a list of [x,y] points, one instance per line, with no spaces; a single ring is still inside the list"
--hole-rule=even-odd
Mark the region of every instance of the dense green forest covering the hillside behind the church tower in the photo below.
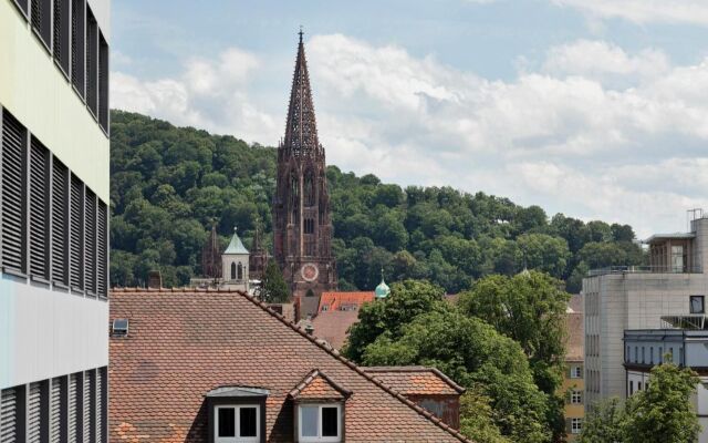
[[[160,269],[166,286],[198,275],[212,223],[250,245],[257,225],[271,244],[275,150],[144,115],[112,112],[111,280],[134,286]],[[336,146],[327,146],[336,150]],[[591,268],[645,259],[627,225],[584,223],[508,198],[451,187],[405,189],[374,175],[327,168],[333,250],[342,289],[381,278],[428,279],[469,289],[489,275],[539,269],[580,289]]]

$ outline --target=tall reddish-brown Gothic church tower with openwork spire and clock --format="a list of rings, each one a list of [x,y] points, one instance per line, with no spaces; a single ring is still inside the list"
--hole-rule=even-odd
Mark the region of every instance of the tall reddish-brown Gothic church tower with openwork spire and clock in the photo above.
[[[273,202],[273,253],[294,296],[336,289],[325,173],[300,31]]]

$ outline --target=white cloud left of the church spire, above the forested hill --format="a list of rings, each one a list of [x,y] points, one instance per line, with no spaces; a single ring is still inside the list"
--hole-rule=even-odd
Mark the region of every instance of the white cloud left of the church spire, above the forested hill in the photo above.
[[[249,142],[270,141],[277,131],[273,117],[254,106],[248,93],[248,82],[259,66],[256,55],[231,48],[216,60],[188,60],[175,78],[139,81],[114,72],[112,106],[177,125],[235,134]]]

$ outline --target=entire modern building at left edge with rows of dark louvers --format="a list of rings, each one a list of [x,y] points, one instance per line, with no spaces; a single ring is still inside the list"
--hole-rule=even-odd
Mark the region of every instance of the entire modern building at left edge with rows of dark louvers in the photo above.
[[[0,441],[105,442],[110,0],[0,0]]]

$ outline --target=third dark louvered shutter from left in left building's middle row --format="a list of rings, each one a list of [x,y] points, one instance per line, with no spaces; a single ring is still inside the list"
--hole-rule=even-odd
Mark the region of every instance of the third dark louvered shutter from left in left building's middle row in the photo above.
[[[52,280],[69,286],[69,169],[56,157],[52,164]]]

